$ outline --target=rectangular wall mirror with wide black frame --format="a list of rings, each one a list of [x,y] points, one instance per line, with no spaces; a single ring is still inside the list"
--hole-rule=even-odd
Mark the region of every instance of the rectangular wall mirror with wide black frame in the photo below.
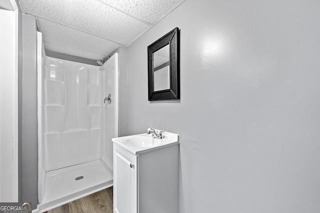
[[[150,44],[148,57],[148,100],[180,99],[179,29]]]

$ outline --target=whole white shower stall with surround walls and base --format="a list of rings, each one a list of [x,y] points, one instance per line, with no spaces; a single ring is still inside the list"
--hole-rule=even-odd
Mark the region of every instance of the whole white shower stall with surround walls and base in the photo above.
[[[44,55],[38,33],[38,210],[113,184],[118,55],[94,66]],[[112,95],[111,102],[104,98]]]

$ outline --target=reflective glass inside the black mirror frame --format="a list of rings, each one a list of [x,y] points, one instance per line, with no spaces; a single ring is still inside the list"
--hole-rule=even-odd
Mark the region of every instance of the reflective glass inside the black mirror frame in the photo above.
[[[170,89],[169,44],[153,53],[153,90]]]

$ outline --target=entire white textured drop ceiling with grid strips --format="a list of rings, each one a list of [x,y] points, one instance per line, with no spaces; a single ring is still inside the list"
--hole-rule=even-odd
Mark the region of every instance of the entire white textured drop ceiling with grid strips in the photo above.
[[[185,0],[18,0],[36,18],[44,47],[100,60],[128,46]]]

